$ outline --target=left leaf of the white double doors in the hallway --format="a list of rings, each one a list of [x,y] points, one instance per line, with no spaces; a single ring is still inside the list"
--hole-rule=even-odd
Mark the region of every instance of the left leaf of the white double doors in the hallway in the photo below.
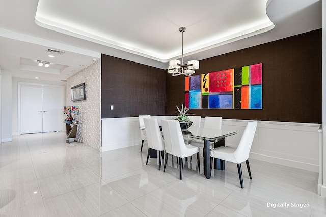
[[[20,87],[20,133],[42,132],[43,86]]]

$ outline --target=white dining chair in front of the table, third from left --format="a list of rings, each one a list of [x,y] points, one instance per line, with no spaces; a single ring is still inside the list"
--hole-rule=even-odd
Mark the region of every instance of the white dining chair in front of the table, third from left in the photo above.
[[[165,143],[165,163],[163,172],[165,172],[169,154],[179,157],[180,162],[180,180],[182,179],[183,158],[197,153],[198,172],[200,172],[199,147],[187,145],[184,143],[180,123],[177,120],[162,120],[162,131]]]

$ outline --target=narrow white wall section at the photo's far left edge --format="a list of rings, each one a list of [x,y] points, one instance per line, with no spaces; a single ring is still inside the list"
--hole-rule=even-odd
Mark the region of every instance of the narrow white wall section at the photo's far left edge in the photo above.
[[[1,141],[12,141],[12,73],[2,70],[1,79]]]

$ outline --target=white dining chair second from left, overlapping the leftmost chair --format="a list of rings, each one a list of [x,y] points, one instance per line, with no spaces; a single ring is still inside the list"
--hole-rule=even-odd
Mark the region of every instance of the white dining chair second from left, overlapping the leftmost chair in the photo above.
[[[158,126],[158,122],[156,118],[144,118],[147,142],[148,142],[148,152],[147,152],[147,160],[146,165],[148,163],[150,148],[154,150],[158,150],[158,170],[161,170],[161,162],[164,154],[164,141],[162,138],[161,131]]]

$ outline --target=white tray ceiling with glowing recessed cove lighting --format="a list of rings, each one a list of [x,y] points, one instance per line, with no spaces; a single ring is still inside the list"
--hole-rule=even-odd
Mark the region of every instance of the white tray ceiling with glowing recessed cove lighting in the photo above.
[[[66,80],[101,53],[167,69],[321,28],[321,0],[63,1],[0,5],[0,68],[13,77]],[[48,49],[64,52],[48,57]],[[37,66],[37,60],[51,62]]]

